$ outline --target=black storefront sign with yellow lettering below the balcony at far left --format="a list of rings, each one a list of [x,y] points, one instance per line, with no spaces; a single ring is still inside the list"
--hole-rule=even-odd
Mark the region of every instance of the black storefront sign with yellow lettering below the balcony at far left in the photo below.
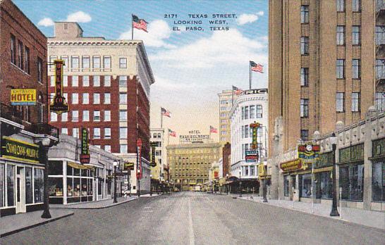
[[[1,157],[39,163],[39,146],[3,136],[1,138]]]

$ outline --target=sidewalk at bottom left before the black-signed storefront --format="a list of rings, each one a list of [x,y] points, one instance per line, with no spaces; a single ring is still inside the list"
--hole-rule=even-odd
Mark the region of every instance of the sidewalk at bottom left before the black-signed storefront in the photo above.
[[[43,211],[35,211],[28,213],[20,213],[16,215],[8,215],[0,218],[0,237],[6,237],[22,230],[27,230],[38,225],[44,225],[48,222],[59,220],[73,215],[72,211],[68,210],[49,210],[52,218],[43,219]]]

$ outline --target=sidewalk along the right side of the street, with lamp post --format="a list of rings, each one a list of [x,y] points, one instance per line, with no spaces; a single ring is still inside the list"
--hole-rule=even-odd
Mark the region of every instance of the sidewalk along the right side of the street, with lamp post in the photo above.
[[[262,196],[243,195],[240,199],[248,201],[262,202]],[[238,197],[239,198],[239,197]],[[312,203],[305,203],[302,201],[288,201],[288,200],[267,200],[267,205],[278,206],[281,208],[288,208],[303,213],[312,213]],[[314,203],[314,215],[319,215],[327,218],[333,218],[335,220],[343,220],[346,222],[353,222],[358,225],[366,225],[369,227],[375,227],[385,230],[385,212],[381,211],[367,211],[358,208],[342,208],[342,218],[330,216],[331,206],[321,203]],[[338,206],[338,213],[341,215],[341,209]]]

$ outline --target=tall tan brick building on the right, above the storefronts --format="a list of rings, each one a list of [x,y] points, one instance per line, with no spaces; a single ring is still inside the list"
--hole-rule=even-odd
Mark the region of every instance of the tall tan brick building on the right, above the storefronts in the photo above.
[[[383,1],[269,1],[270,156],[384,110],[384,47]]]

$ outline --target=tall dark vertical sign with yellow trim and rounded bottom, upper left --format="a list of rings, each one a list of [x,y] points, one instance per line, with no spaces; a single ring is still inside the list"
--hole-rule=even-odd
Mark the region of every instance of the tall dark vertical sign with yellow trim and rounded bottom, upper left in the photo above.
[[[68,111],[66,98],[63,96],[63,60],[55,60],[55,96],[49,105],[49,111],[61,114]]]

